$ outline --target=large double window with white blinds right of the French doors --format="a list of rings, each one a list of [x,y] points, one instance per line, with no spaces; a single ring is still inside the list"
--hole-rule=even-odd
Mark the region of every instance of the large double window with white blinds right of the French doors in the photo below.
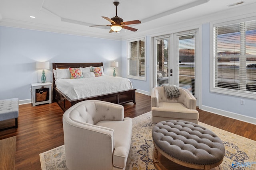
[[[213,31],[213,89],[256,98],[256,20]]]

